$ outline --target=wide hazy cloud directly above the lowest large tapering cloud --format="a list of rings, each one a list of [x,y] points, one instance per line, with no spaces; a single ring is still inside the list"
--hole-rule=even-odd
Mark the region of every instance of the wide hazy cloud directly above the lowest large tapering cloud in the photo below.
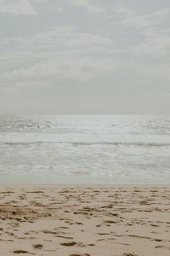
[[[30,39],[24,39],[22,37],[14,37],[11,39],[4,39],[0,42],[1,48],[21,50],[26,48],[28,50],[39,51],[55,51],[62,52],[76,52],[80,54],[93,54],[93,49],[95,53],[99,50],[114,50],[115,49],[115,39],[110,39],[108,36],[93,35],[91,33],[77,33],[74,28],[68,27],[53,27],[50,30],[31,37]]]

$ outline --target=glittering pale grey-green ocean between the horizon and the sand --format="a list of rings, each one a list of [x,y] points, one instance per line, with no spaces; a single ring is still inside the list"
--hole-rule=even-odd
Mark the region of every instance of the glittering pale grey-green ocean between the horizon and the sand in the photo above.
[[[0,183],[170,183],[170,116],[0,116]]]

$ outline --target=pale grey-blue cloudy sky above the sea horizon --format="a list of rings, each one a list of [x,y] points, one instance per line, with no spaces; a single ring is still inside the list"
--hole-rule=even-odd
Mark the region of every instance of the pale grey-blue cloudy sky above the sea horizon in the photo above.
[[[0,0],[0,114],[170,114],[169,0]]]

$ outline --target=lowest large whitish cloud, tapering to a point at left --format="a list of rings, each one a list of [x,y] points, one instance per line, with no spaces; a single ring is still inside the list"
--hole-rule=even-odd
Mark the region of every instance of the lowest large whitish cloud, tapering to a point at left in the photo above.
[[[46,63],[37,63],[28,69],[15,69],[5,73],[3,78],[9,82],[85,82],[95,76],[114,70],[114,62],[108,58],[62,56]]]

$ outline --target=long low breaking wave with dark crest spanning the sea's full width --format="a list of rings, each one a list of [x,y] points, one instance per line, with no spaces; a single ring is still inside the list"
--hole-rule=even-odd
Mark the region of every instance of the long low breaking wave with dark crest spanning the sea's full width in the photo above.
[[[72,144],[73,146],[90,145],[126,145],[126,146],[144,146],[144,147],[165,147],[170,143],[152,143],[152,142],[0,142],[0,145],[32,145],[32,144]]]

